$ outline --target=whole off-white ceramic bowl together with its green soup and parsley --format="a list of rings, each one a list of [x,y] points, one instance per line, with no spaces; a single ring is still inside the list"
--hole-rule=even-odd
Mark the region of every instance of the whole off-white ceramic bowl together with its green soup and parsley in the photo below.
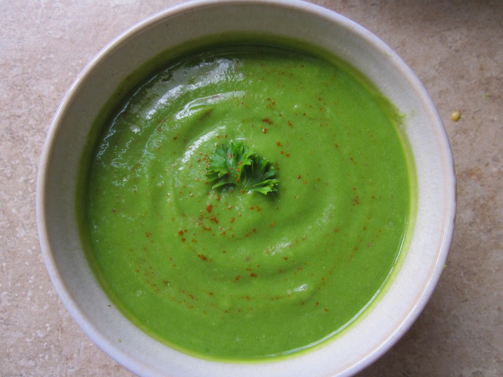
[[[455,218],[425,88],[300,1],[154,15],[76,78],[44,146],[47,269],[141,376],[348,376],[425,307]]]

